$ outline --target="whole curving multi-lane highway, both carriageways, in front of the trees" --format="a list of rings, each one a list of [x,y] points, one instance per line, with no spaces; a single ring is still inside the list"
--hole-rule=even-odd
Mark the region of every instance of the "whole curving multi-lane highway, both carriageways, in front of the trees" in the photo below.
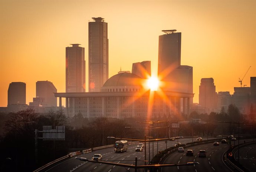
[[[221,140],[221,139],[220,139]],[[248,142],[247,140],[246,142]],[[175,141],[168,141],[167,147],[171,147],[177,142]],[[182,138],[179,139],[178,142],[181,144],[186,144],[187,142],[191,142],[191,138]],[[127,152],[123,153],[115,153],[114,147],[105,148],[95,150],[88,154],[81,154],[78,157],[91,159],[93,154],[102,154],[102,161],[108,162],[115,162],[118,164],[128,164],[128,165],[135,165],[135,157],[137,156],[138,164],[137,165],[144,165],[145,159],[145,149],[143,152],[135,152],[135,147],[137,145],[129,145]],[[146,160],[148,160],[148,143],[146,145],[147,154]],[[221,144],[219,146],[213,146],[212,143],[194,145],[191,147],[186,147],[185,152],[173,152],[170,154],[164,161],[167,164],[185,164],[187,162],[199,162],[199,165],[194,166],[175,166],[175,167],[165,167],[160,169],[162,172],[165,171],[192,171],[192,172],[200,172],[200,171],[221,171],[227,172],[230,169],[222,162],[222,155],[227,150],[227,144]],[[158,151],[162,151],[166,149],[166,144],[164,141],[158,142]],[[186,156],[186,150],[193,149],[194,155],[193,156]],[[206,158],[199,158],[197,153],[199,150],[206,150],[207,156]],[[150,158],[152,159],[152,143],[150,144]],[[154,155],[157,154],[157,143],[154,143]],[[241,154],[241,151],[240,151]],[[47,172],[127,172],[127,171],[134,171],[134,169],[129,169],[126,167],[121,166],[114,166],[114,165],[106,165],[100,163],[93,163],[93,162],[86,162],[86,161],[79,161],[75,159],[76,156],[66,159],[65,161],[56,164],[55,166],[51,166],[50,168],[44,170]],[[143,171],[143,169],[138,169],[138,172]]]

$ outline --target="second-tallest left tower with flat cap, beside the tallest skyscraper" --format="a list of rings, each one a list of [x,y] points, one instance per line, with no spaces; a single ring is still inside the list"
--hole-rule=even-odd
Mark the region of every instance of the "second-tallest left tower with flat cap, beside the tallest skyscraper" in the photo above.
[[[66,92],[85,92],[85,48],[66,47]]]

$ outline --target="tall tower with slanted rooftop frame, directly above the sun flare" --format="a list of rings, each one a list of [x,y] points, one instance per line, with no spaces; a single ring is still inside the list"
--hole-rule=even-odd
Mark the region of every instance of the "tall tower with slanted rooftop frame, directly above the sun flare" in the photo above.
[[[158,76],[167,76],[173,69],[180,66],[181,32],[163,30],[158,43]]]

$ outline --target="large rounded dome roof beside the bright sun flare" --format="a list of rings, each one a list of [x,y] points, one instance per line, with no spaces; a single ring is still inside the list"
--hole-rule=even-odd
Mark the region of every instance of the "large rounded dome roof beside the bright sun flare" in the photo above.
[[[102,87],[141,86],[142,78],[133,73],[118,73],[109,78]]]

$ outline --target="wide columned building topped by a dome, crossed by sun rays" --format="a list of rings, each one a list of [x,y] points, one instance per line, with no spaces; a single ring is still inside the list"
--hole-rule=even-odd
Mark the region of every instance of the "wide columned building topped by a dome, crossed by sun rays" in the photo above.
[[[189,100],[194,95],[178,92],[154,91],[150,101],[150,90],[144,87],[146,79],[133,73],[118,73],[109,78],[101,88],[101,92],[55,93],[66,98],[66,116],[72,118],[78,113],[83,117],[158,117],[163,115],[181,114],[181,98],[189,113]],[[150,105],[149,105],[150,104]],[[150,107],[149,107],[150,106]]]

